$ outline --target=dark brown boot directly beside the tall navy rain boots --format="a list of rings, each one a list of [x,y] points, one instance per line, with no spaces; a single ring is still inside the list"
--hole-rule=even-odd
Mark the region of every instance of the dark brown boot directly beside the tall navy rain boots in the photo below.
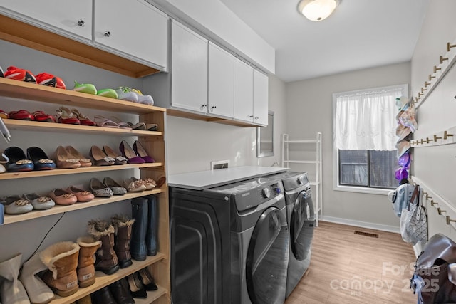
[[[111,219],[115,228],[114,250],[119,258],[120,268],[132,264],[130,254],[131,229],[135,219],[128,219],[126,216],[116,214]]]

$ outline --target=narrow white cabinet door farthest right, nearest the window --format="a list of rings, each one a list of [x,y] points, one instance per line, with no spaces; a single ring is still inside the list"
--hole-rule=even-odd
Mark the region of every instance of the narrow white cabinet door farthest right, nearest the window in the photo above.
[[[268,76],[254,70],[254,123],[268,125]]]

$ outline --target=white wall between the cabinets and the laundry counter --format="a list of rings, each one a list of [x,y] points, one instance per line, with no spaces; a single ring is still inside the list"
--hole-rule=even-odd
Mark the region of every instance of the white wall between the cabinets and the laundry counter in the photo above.
[[[168,174],[210,169],[213,160],[229,159],[230,166],[261,165],[280,162],[280,135],[285,132],[285,84],[269,76],[269,110],[274,111],[274,156],[257,158],[257,128],[234,127],[167,117]]]

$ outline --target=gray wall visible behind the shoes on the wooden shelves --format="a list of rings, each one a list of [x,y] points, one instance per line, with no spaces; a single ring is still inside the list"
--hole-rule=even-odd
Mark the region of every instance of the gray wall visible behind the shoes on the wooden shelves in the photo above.
[[[17,46],[13,43],[0,40],[1,58],[0,65],[3,70],[6,70],[9,65],[15,65],[18,68],[26,68],[33,74],[41,72],[52,73],[63,79],[68,89],[73,88],[73,81],[79,83],[93,83],[98,89],[115,88],[119,85],[127,85],[132,88],[142,90],[142,81],[140,79],[129,78],[116,73],[110,73],[105,70],[93,68],[89,65],[69,61],[64,58],[49,55],[39,51],[34,51],[23,46]],[[145,92],[147,93],[147,92]],[[56,114],[56,109],[59,105],[37,103],[31,100],[19,100],[14,98],[0,97],[1,110],[9,112],[11,110],[43,110],[52,115]],[[70,107],[71,108],[71,107]],[[109,117],[113,112],[93,111],[78,107],[78,110],[84,115],[93,117],[94,114]],[[138,121],[137,115],[127,115],[116,113],[121,119]],[[58,145],[73,145],[79,152],[88,157],[89,150],[92,145],[109,145],[115,150],[118,150],[120,140],[118,136],[101,136],[101,135],[84,135],[76,133],[63,132],[33,132],[10,130],[11,142],[5,145],[0,142],[0,150],[6,147],[17,146],[24,151],[27,147],[41,147],[48,157],[53,157],[53,152]],[[130,145],[133,144],[135,137],[125,138]],[[54,188],[65,188],[71,184],[82,185],[88,189],[90,178],[95,177],[103,179],[105,176],[112,177],[120,181],[123,178],[138,175],[138,170],[127,169],[110,172],[94,172],[93,174],[72,174],[59,175],[54,177],[38,177],[27,179],[11,179],[0,181],[0,196],[13,194],[24,194],[37,192],[38,194],[46,194]],[[83,203],[83,204],[90,204]],[[115,213],[130,214],[131,207],[128,201],[120,201],[114,204],[105,206],[97,206],[89,209],[81,209],[71,211],[65,214],[56,214],[53,216],[44,216],[38,219],[22,221],[19,223],[0,226],[0,261],[5,261],[16,255],[23,253],[22,261],[31,256],[31,253],[38,248],[41,240],[44,239],[46,233],[50,230],[40,250],[47,246],[56,243],[57,241],[76,241],[79,236],[86,235],[87,221],[90,219],[109,219]],[[58,223],[57,223],[58,222]],[[56,224],[57,223],[57,224]],[[53,225],[56,226],[53,227]]]

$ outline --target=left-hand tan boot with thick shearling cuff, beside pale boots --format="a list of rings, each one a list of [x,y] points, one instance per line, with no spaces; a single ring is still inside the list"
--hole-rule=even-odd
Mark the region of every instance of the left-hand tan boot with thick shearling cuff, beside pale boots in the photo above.
[[[61,297],[78,291],[78,255],[79,245],[71,241],[55,243],[40,253],[41,261],[49,269],[41,279]]]

